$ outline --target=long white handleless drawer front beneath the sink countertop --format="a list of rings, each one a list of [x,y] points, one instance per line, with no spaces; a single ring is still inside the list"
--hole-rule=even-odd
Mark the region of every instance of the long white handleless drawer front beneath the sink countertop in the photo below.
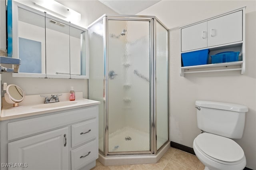
[[[47,105],[47,104],[46,104]],[[98,106],[8,123],[8,140],[96,118]]]

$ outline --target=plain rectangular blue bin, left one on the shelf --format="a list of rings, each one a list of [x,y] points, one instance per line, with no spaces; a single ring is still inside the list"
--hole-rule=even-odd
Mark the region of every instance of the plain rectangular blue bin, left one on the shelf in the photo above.
[[[183,66],[208,64],[209,51],[209,49],[202,49],[198,51],[182,53],[181,58]]]

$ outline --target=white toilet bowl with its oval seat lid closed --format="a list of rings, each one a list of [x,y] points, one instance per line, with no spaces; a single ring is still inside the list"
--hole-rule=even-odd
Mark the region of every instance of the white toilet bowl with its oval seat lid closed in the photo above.
[[[193,148],[205,170],[242,170],[246,166],[244,151],[230,138],[204,132],[194,139]]]

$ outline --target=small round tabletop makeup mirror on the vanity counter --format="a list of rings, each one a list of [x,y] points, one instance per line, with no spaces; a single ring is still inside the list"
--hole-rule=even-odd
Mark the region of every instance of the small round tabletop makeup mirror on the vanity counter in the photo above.
[[[7,103],[13,104],[13,107],[18,107],[18,104],[23,101],[24,97],[24,91],[17,85],[10,84],[6,87],[4,99]]]

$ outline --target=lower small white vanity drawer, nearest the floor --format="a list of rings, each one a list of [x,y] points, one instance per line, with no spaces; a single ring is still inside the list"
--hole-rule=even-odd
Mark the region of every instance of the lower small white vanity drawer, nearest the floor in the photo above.
[[[71,150],[71,169],[77,170],[98,158],[97,140]]]

